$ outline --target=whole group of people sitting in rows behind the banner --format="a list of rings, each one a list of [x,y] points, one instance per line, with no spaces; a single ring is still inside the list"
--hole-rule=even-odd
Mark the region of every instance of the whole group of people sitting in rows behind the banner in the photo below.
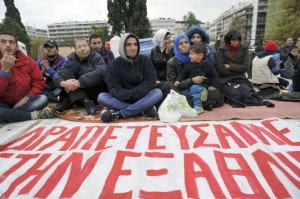
[[[44,44],[45,56],[34,62],[24,55],[17,38],[0,33],[0,121],[16,122],[53,117],[74,106],[103,122],[135,116],[157,117],[157,109],[171,89],[186,96],[197,114],[221,107],[273,107],[266,99],[274,90],[300,92],[299,48],[283,48],[268,41],[252,62],[248,46],[237,30],[222,33],[211,47],[209,34],[192,26],[174,39],[166,29],[156,32],[150,56],[140,54],[132,33],[121,35],[119,57],[102,45],[100,37],[78,38],[75,52],[59,55],[53,40]],[[256,86],[257,88],[255,88]],[[258,89],[258,92],[257,92]],[[278,93],[277,93],[278,94]],[[278,96],[276,96],[278,97]],[[48,102],[55,102],[53,110]],[[99,113],[97,104],[106,107]]]

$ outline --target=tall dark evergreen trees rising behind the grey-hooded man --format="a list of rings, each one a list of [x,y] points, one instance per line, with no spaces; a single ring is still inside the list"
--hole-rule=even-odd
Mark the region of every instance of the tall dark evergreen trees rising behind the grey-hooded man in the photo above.
[[[131,32],[139,38],[151,35],[146,0],[107,0],[108,23],[112,35]]]

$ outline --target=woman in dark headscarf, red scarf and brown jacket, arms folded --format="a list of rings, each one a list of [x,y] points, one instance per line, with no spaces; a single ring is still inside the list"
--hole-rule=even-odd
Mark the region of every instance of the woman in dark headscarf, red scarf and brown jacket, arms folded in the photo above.
[[[233,107],[264,105],[261,99],[254,98],[252,83],[246,77],[249,70],[249,50],[248,46],[241,44],[239,31],[230,30],[225,35],[225,45],[218,49],[216,60],[219,87],[226,103]]]

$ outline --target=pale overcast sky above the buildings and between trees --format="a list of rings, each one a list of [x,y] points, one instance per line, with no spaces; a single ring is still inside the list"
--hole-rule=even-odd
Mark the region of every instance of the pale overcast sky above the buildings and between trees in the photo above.
[[[239,2],[246,0],[147,0],[148,18],[159,17],[182,20],[192,11],[196,18],[207,22]],[[107,19],[107,0],[15,0],[23,24],[46,29],[47,24],[64,21]],[[6,7],[0,0],[0,19]]]

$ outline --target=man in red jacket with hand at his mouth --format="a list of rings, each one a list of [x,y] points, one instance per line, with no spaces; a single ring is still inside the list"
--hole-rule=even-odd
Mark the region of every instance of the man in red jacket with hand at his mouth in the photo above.
[[[0,121],[53,117],[46,107],[45,80],[35,61],[19,50],[17,38],[0,33]]]

